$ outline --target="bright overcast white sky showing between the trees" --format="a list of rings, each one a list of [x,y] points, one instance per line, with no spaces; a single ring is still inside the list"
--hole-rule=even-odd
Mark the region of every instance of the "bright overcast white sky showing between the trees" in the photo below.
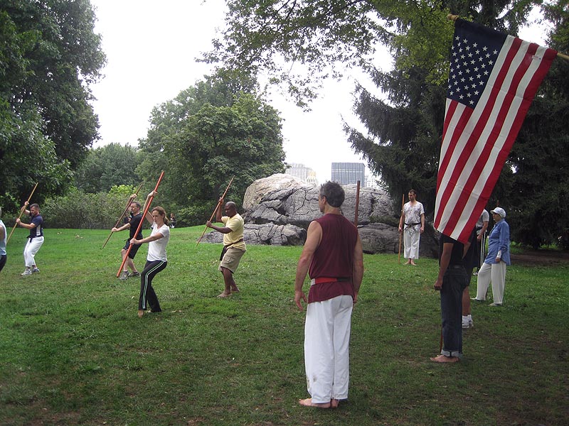
[[[91,0],[91,4],[97,15],[95,31],[102,35],[107,55],[105,78],[92,87],[101,136],[95,147],[112,142],[137,146],[139,138],[147,136],[153,107],[211,73],[208,65],[195,59],[210,50],[216,28],[223,26],[225,1]],[[390,58],[381,63],[389,68]],[[331,178],[332,162],[363,162],[342,131],[342,117],[358,127],[351,113],[353,87],[351,78],[326,82],[311,112],[276,91],[267,99],[284,119],[287,163],[304,163],[316,171],[319,182]]]

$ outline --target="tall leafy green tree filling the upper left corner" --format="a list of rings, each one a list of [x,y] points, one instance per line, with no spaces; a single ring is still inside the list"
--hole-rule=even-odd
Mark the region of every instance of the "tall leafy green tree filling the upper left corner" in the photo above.
[[[0,0],[0,202],[61,193],[97,138],[89,84],[105,63],[88,0]],[[14,178],[16,177],[16,178]]]

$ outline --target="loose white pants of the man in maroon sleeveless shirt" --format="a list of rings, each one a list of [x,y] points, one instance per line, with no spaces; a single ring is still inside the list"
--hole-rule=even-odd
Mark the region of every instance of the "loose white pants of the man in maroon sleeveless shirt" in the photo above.
[[[351,296],[309,303],[304,324],[304,366],[313,403],[348,398]]]

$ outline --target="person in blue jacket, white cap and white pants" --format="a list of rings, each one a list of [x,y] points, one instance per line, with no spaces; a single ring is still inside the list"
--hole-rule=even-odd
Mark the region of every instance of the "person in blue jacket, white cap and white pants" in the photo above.
[[[492,283],[494,303],[490,306],[501,306],[504,302],[504,286],[506,285],[506,266],[510,262],[510,226],[506,220],[506,211],[496,207],[491,211],[494,228],[488,238],[488,256],[478,271],[477,295],[474,300],[486,300],[486,291]]]

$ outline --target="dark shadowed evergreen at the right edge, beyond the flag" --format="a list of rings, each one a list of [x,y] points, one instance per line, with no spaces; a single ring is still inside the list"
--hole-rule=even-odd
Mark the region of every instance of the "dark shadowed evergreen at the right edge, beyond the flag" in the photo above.
[[[569,52],[569,5],[544,9],[553,23],[548,45]],[[569,60],[553,61],[494,191],[509,208],[515,241],[537,248],[560,243],[569,249]],[[494,204],[495,205],[495,204]]]

